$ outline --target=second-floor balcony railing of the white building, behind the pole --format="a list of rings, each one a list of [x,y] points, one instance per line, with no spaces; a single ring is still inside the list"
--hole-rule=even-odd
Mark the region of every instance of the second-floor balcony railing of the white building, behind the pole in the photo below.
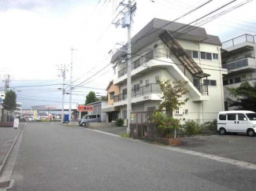
[[[141,86],[132,90],[132,97],[139,97],[146,94],[161,94],[160,85],[158,83],[150,83],[146,86]],[[119,94],[113,97],[114,102],[124,101],[127,99],[127,94]]]

